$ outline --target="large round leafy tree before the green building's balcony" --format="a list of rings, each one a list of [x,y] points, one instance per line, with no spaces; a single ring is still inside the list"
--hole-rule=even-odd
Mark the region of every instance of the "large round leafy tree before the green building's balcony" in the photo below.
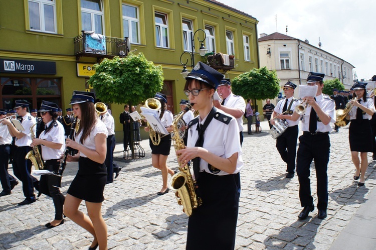
[[[134,105],[153,97],[163,87],[163,71],[142,53],[104,59],[94,65],[89,84],[97,97],[107,103]]]

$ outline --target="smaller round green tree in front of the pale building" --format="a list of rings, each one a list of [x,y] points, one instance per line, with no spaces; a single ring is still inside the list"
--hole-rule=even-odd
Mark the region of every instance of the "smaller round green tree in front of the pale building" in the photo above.
[[[279,93],[279,79],[275,70],[253,68],[232,80],[232,91],[245,99],[273,99]],[[256,102],[254,102],[256,103]]]

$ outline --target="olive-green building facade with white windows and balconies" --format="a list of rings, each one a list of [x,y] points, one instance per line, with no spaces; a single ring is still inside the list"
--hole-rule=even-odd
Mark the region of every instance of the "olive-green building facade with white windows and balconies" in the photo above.
[[[0,108],[13,108],[16,99],[29,100],[32,108],[49,100],[64,111],[73,90],[94,91],[86,83],[93,64],[104,57],[126,56],[125,37],[130,51],[142,52],[162,66],[161,92],[173,113],[179,111],[180,99],[186,99],[182,63],[189,71],[194,66],[191,34],[195,64],[208,62],[230,79],[259,67],[258,21],[217,1],[1,0],[0,5]],[[93,46],[88,39],[82,44],[90,35],[82,31],[104,35],[90,39],[105,47]],[[200,41],[213,56],[200,56]],[[110,109],[116,141],[121,142],[123,105],[110,104]]]

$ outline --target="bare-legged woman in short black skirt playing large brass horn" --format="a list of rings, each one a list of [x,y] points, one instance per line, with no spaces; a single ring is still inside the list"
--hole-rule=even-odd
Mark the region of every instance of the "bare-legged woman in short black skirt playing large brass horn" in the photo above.
[[[173,131],[172,128],[172,121],[173,115],[172,113],[167,110],[167,96],[162,93],[156,93],[154,96],[155,99],[158,99],[162,105],[159,113],[159,119],[166,128],[168,133]],[[149,128],[146,126],[144,129],[146,132],[149,132]],[[155,132],[156,133],[156,132]],[[162,135],[163,136],[163,135]],[[174,175],[175,171],[171,170],[167,167],[167,158],[170,154],[171,149],[171,135],[165,135],[164,137],[160,138],[160,143],[158,145],[153,145],[151,139],[149,138],[149,145],[151,148],[151,164],[154,168],[157,168],[162,173],[162,189],[157,193],[157,195],[163,195],[168,193],[168,185],[167,185],[167,176],[170,174],[171,176]]]

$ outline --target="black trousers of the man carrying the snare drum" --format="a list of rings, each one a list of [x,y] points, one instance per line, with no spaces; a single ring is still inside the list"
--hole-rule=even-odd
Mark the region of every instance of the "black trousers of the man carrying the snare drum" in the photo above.
[[[277,138],[276,148],[282,160],[287,163],[287,172],[295,172],[296,141],[298,140],[299,129],[295,125]]]

